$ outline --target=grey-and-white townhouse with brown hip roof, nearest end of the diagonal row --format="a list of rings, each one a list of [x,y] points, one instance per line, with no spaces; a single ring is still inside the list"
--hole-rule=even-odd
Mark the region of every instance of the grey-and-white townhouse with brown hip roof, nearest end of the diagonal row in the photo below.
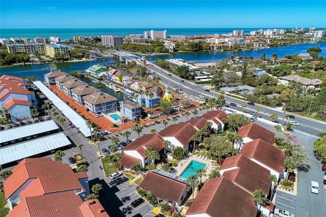
[[[95,90],[95,93],[86,95],[83,98],[86,110],[96,117],[117,111],[117,98],[107,93]]]

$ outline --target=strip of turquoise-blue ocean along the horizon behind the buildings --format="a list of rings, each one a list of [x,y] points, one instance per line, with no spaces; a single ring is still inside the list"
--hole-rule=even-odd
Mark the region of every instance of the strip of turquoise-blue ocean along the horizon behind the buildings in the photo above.
[[[224,34],[232,33],[233,30],[243,30],[244,34],[249,34],[254,30],[267,30],[275,28],[166,28],[166,29],[0,29],[0,38],[30,38],[36,37],[50,38],[51,36],[59,37],[62,40],[73,39],[73,36],[100,36],[100,35],[120,35],[144,34],[144,31],[167,31],[167,35],[206,35],[206,34]],[[292,28],[276,28],[276,29],[292,29]]]

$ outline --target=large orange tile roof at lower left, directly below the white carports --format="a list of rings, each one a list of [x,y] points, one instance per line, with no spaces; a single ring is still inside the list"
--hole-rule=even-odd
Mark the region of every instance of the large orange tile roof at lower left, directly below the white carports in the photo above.
[[[39,179],[40,185],[35,184],[32,186],[41,186],[44,194],[83,188],[68,164],[62,164],[61,161],[42,160],[42,158],[35,159],[41,160],[30,161],[26,159],[20,162],[17,166],[18,169],[13,170],[12,175],[5,180],[6,199],[15,193],[28,179]],[[85,174],[83,173],[82,176],[85,177]],[[32,191],[32,189],[29,189],[29,191]],[[39,189],[34,189],[34,191],[39,191]]]

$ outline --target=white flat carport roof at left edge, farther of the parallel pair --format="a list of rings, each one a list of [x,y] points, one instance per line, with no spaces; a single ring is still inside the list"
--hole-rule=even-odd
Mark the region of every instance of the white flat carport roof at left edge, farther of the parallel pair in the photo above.
[[[58,130],[59,126],[52,120],[33,123],[30,125],[20,126],[8,130],[0,131],[0,144],[4,145],[6,142],[18,142],[19,139],[24,139],[32,135],[37,135],[52,130]]]

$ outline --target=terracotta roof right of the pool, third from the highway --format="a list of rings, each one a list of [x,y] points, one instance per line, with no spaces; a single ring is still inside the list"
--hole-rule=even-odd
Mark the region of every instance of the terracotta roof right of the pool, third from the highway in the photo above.
[[[253,193],[257,188],[260,188],[266,195],[269,194],[271,181],[269,170],[250,160],[243,154],[239,154],[227,157],[223,162],[220,171],[226,169],[226,166],[224,165],[225,163],[228,168],[231,168],[232,163],[230,161],[233,161],[233,167],[236,167],[236,169],[225,171],[223,176],[239,184],[243,188],[246,188],[251,193]]]

